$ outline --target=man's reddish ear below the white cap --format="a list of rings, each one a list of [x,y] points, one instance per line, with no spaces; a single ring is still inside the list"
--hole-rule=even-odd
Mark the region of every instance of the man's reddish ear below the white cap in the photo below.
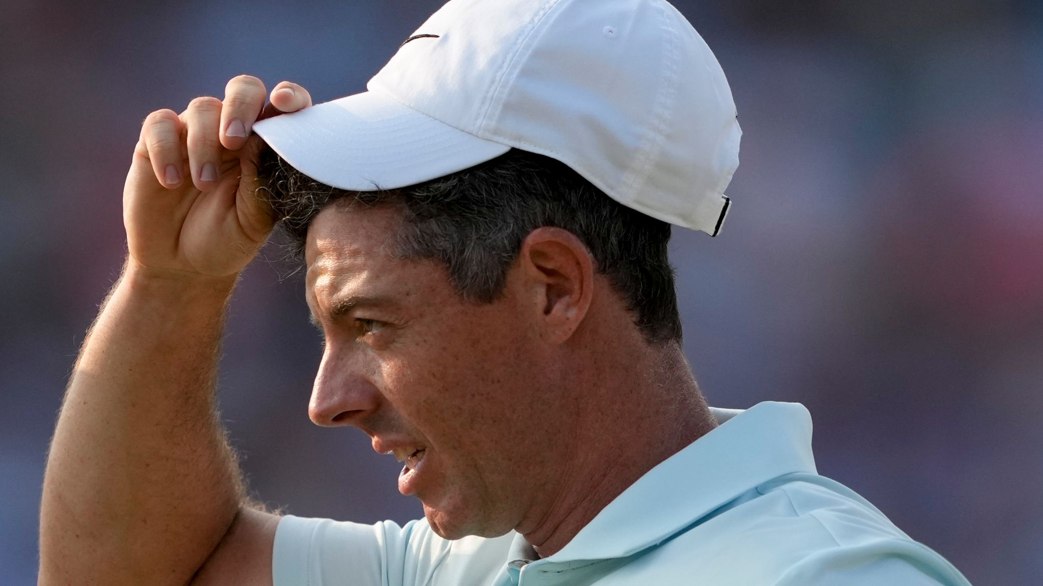
[[[590,252],[573,233],[543,226],[526,237],[518,262],[542,337],[552,343],[564,342],[590,309]]]

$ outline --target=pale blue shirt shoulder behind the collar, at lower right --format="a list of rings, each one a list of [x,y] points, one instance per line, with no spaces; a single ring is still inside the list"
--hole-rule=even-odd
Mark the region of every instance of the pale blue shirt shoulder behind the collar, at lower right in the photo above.
[[[968,584],[866,499],[806,473],[744,493],[645,557],[648,571],[721,585]]]

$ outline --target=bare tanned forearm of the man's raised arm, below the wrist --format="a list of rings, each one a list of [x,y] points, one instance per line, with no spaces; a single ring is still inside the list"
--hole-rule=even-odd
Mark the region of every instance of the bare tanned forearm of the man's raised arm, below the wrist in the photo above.
[[[242,496],[215,370],[234,278],[128,268],[76,362],[47,462],[41,584],[185,584]]]

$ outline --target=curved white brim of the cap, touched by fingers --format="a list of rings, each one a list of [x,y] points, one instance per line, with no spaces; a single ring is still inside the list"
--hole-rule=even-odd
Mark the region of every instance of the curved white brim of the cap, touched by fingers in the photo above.
[[[373,92],[261,120],[253,131],[301,173],[350,191],[423,182],[510,150]]]

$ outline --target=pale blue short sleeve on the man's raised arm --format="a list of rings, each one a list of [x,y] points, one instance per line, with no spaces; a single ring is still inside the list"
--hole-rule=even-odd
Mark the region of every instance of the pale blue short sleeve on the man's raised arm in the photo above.
[[[428,584],[450,541],[423,519],[399,527],[288,515],[275,530],[274,586],[414,586]]]

